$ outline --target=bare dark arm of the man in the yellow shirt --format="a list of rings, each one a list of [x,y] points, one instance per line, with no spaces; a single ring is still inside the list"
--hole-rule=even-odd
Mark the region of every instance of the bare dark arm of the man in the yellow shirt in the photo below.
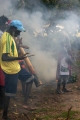
[[[14,61],[14,60],[23,60],[24,58],[27,57],[26,54],[24,54],[20,57],[10,57],[10,56],[8,56],[8,53],[4,53],[4,54],[2,54],[2,61],[8,62],[8,61]]]

